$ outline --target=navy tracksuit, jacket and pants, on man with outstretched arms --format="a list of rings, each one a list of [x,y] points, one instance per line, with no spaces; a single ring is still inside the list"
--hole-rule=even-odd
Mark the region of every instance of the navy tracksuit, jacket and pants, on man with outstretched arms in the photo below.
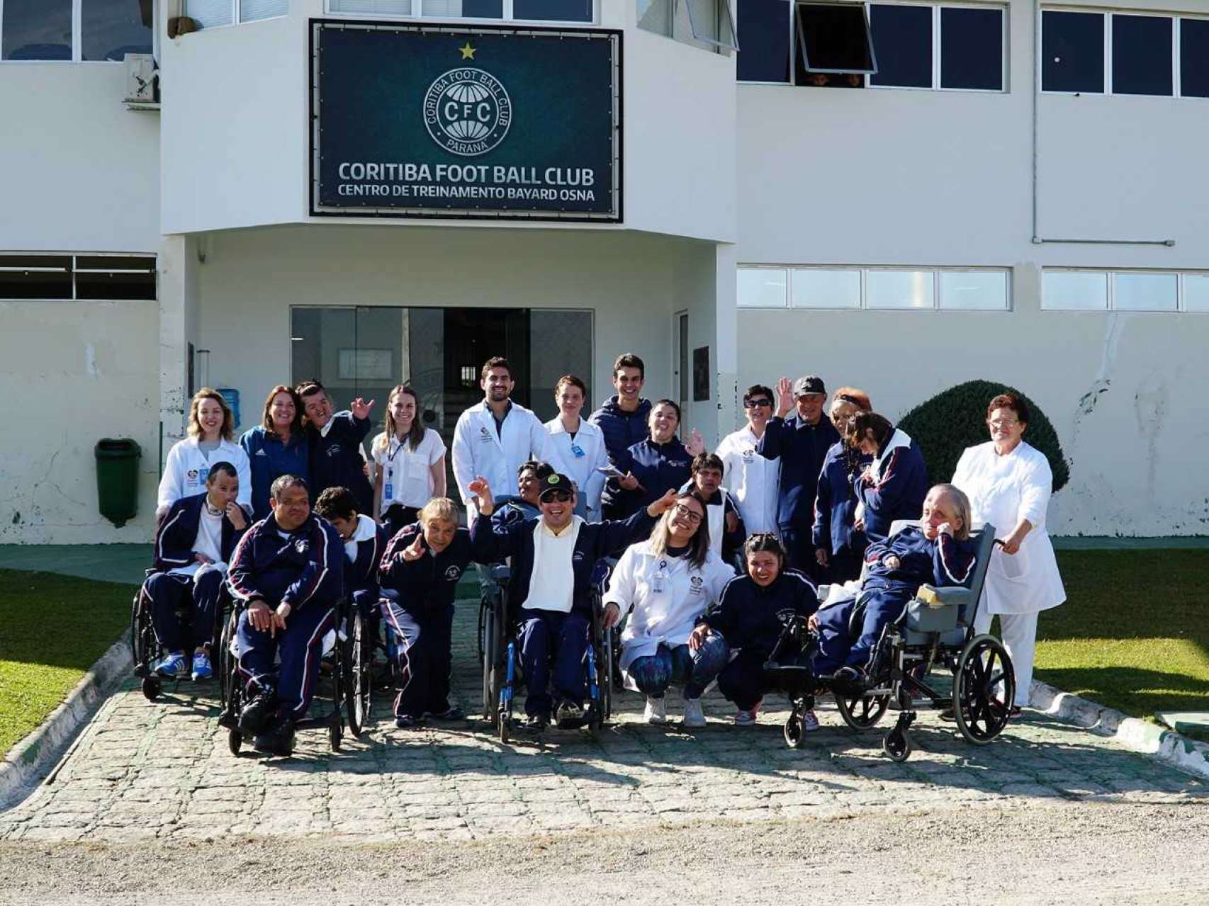
[[[575,517],[578,518],[578,517]],[[617,522],[585,522],[579,527],[571,554],[574,575],[571,612],[526,610],[530,577],[533,575],[533,532],[537,519],[494,525],[491,519],[476,519],[470,530],[475,557],[480,562],[511,557],[508,579],[509,614],[521,621],[521,664],[528,696],[525,713],[549,716],[554,704],[546,689],[550,683],[550,650],[555,650],[554,686],[560,698],[582,703],[584,698],[584,650],[588,626],[592,618],[592,571],[596,562],[611,551],[647,538],[654,519],[646,509]]]

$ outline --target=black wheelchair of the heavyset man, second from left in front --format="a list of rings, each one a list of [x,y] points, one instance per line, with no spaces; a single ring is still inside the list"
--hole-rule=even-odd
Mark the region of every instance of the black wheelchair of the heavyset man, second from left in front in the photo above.
[[[239,676],[238,655],[236,654],[236,629],[239,616],[245,606],[239,599],[232,599],[232,606],[222,623],[222,635],[219,643],[219,672],[222,691],[222,712],[219,726],[227,731],[227,748],[232,755],[238,755],[243,747],[243,733],[239,731],[239,712],[243,709],[245,687]],[[316,693],[311,701],[307,716],[294,724],[295,730],[326,730],[332,751],[340,751],[345,736],[345,716],[353,736],[360,736],[364,720],[369,716],[370,696],[365,676],[365,662],[357,652],[363,651],[354,640],[364,641],[366,622],[360,609],[352,605],[348,598],[341,598],[336,604],[336,626],[329,629],[323,640],[323,655],[319,661],[319,678]],[[324,674],[329,681],[324,684]],[[326,685],[326,695],[323,686]],[[330,702],[326,714],[316,716],[314,709],[320,699]]]

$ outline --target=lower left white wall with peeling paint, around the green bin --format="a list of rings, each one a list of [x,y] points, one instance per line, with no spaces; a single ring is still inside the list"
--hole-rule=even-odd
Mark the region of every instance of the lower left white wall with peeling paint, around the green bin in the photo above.
[[[146,541],[158,475],[155,302],[0,302],[0,544]],[[143,448],[139,513],[97,510],[93,445]]]

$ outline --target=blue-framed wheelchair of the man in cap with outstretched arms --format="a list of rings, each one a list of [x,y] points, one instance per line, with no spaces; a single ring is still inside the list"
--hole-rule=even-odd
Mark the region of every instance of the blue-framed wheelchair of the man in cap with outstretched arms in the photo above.
[[[484,720],[491,724],[499,742],[508,743],[516,730],[513,705],[517,687],[525,681],[520,655],[520,614],[508,600],[508,567],[492,567],[492,577],[499,590],[484,608],[482,708]],[[613,713],[613,658],[609,655],[615,633],[602,621],[600,593],[592,594],[592,618],[589,623],[588,646],[584,649],[584,679],[588,690],[583,725],[592,738]],[[551,657],[554,651],[550,652]]]

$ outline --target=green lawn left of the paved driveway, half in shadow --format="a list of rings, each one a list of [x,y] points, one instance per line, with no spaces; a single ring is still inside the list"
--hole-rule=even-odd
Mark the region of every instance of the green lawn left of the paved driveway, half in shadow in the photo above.
[[[137,591],[0,569],[0,753],[41,724],[117,640]]]

